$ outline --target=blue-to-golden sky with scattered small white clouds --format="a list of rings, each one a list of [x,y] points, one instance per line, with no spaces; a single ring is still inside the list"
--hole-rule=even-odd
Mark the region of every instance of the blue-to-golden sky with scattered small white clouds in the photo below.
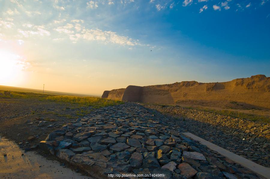
[[[0,85],[101,95],[256,74],[269,0],[0,0]]]

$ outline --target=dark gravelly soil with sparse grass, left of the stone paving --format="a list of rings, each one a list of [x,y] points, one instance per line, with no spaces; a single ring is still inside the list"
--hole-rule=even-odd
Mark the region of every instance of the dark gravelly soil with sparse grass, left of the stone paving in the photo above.
[[[44,140],[50,132],[91,110],[91,107],[38,98],[0,98],[0,133],[17,143],[34,136],[34,140],[28,141],[31,145]],[[45,125],[38,127],[42,120],[46,121]]]

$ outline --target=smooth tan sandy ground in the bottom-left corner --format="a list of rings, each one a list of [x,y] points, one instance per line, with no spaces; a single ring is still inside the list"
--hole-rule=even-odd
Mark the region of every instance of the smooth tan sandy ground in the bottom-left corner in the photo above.
[[[92,179],[64,168],[58,161],[46,160],[35,152],[25,153],[3,137],[0,137],[0,178]]]

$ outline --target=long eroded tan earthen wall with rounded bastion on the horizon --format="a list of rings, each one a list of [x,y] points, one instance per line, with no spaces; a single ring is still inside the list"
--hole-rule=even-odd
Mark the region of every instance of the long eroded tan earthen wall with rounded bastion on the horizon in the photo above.
[[[104,94],[104,97],[106,96]],[[177,104],[190,100],[237,101],[270,108],[270,77],[255,75],[229,82],[183,81],[143,87],[130,85],[127,88],[111,90],[108,99],[162,104]]]

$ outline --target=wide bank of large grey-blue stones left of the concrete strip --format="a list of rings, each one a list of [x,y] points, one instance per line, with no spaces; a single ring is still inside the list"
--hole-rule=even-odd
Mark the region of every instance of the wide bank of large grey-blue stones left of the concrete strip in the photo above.
[[[171,118],[125,103],[64,125],[40,147],[95,178],[259,178],[179,132]]]

